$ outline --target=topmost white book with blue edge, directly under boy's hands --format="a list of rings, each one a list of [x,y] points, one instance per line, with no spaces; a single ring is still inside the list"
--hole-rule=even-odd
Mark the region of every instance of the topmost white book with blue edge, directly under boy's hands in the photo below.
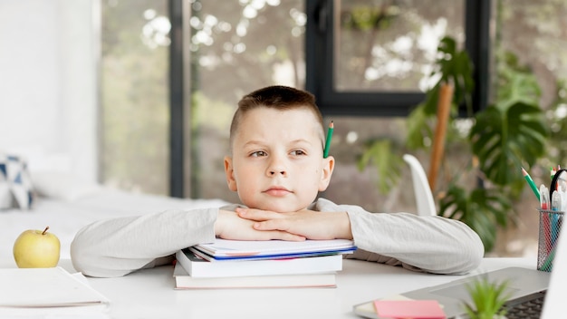
[[[200,244],[195,248],[216,259],[344,254],[356,250],[354,242],[348,239],[245,241],[216,238],[214,243]]]

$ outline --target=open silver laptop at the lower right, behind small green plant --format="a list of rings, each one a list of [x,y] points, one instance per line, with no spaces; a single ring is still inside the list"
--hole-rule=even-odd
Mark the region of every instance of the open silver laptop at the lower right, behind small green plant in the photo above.
[[[564,296],[564,288],[561,283],[564,283],[567,275],[564,275],[562,270],[567,268],[567,239],[562,239],[560,236],[559,246],[555,253],[553,260],[553,277],[552,274],[538,271],[535,269],[527,269],[522,267],[507,267],[492,272],[487,272],[479,275],[467,276],[465,278],[457,279],[443,285],[434,285],[426,288],[410,291],[401,294],[400,299],[418,299],[418,300],[437,300],[439,304],[443,305],[443,310],[447,318],[455,318],[465,316],[464,303],[471,303],[470,297],[466,290],[466,286],[473,283],[478,278],[488,277],[491,282],[509,282],[510,293],[512,294],[510,300],[506,304],[507,307],[513,307],[514,304],[523,303],[526,300],[543,299],[543,315],[542,318],[551,318],[554,313],[552,309],[557,310],[558,304],[561,304]],[[565,242],[562,244],[562,242]],[[561,271],[560,271],[561,270]],[[559,278],[559,277],[562,278]],[[553,278],[553,286],[550,287]],[[549,288],[549,291],[548,291]],[[558,292],[558,290],[563,290]],[[378,318],[374,310],[373,301],[364,304],[356,304],[353,307],[355,314],[366,318]],[[555,313],[556,314],[556,313]]]

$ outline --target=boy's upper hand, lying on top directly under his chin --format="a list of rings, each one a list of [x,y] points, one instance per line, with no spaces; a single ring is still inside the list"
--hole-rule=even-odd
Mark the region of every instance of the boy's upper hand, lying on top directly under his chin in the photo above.
[[[346,212],[300,210],[276,213],[252,208],[236,208],[236,213],[240,218],[255,221],[253,227],[261,231],[280,230],[308,239],[352,239],[351,220]]]

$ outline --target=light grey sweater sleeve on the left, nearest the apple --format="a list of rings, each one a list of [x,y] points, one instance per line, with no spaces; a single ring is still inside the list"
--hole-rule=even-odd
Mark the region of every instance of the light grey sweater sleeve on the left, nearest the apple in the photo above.
[[[83,227],[71,244],[72,265],[84,275],[115,277],[172,261],[182,248],[215,240],[218,208],[166,210]]]

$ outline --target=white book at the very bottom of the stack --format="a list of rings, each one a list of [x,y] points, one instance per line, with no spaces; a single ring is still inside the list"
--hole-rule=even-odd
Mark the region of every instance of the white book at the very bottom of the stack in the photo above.
[[[334,288],[335,273],[309,275],[252,275],[218,278],[195,278],[176,264],[173,277],[175,289],[221,289],[221,288]]]

